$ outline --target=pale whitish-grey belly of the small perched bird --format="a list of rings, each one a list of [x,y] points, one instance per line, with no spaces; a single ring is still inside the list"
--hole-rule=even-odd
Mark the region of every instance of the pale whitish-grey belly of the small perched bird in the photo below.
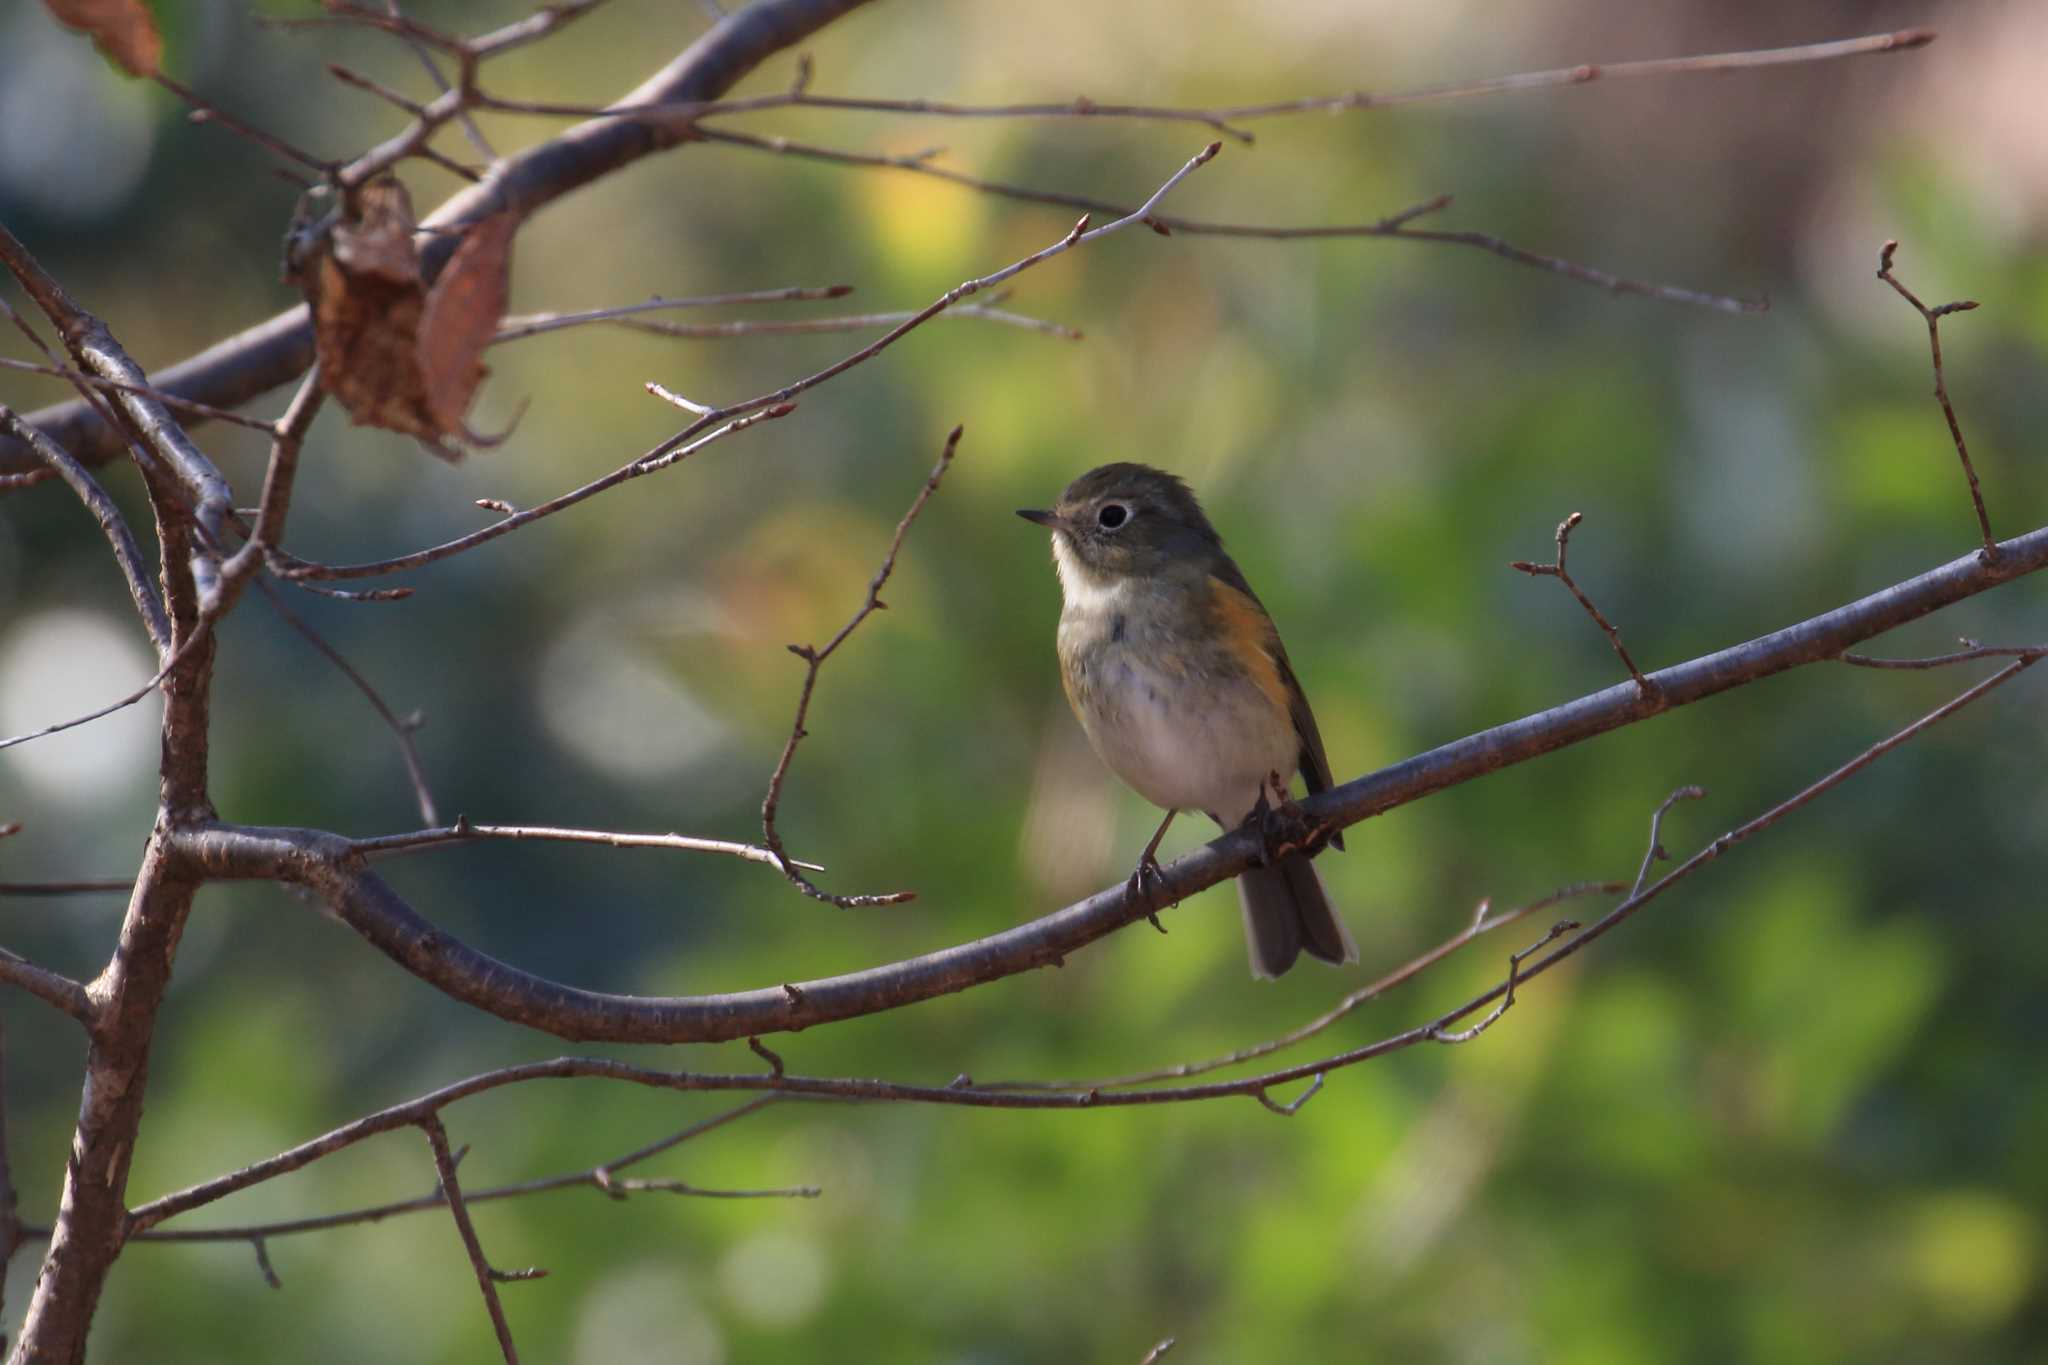
[[[1102,761],[1155,806],[1233,825],[1268,774],[1294,776],[1292,720],[1249,677],[1159,669],[1120,647],[1087,653],[1073,708]]]

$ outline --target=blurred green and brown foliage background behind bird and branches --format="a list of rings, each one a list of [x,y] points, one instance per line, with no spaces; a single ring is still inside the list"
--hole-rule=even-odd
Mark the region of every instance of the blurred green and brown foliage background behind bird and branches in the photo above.
[[[272,31],[242,4],[164,6],[168,70],[322,156],[397,115],[324,74],[414,94],[416,57],[346,31]],[[303,12],[264,6],[272,14]],[[174,10],[174,12],[172,12]],[[451,29],[518,4],[408,4]],[[614,0],[487,70],[541,100],[618,96],[707,29],[696,4]],[[938,454],[967,436],[872,618],[825,669],[782,831],[842,913],[715,857],[471,847],[387,866],[467,941],[580,986],[711,993],[846,972],[1016,925],[1120,880],[1155,812],[1094,761],[1059,694],[1044,505],[1141,458],[1186,475],[1260,585],[1339,778],[1620,677],[1556,585],[1573,571],[1645,667],[1839,606],[1970,548],[1929,399],[1919,317],[2001,534],[2048,516],[2048,8],[1335,0],[893,4],[805,45],[815,90],[946,100],[1214,104],[1397,90],[1581,61],[1769,47],[1933,25],[1927,49],[1825,65],[1599,82],[1395,113],[1257,123],[1169,209],[1239,223],[1366,223],[1432,194],[1427,225],[1499,233],[1618,274],[1767,295],[1731,317],[1610,297],[1456,246],[1225,241],[1130,231],[1024,274],[1010,305],[1081,342],[936,321],[801,409],[530,530],[399,581],[399,604],[293,593],[401,714],[444,817],[758,835],[768,769],[819,641]],[[741,92],[784,88],[795,55]],[[483,119],[500,151],[559,127]],[[295,188],[258,149],[113,76],[39,4],[0,6],[0,219],[147,366],[295,299],[279,239]],[[1139,201],[1206,141],[1110,121],[780,113],[733,127],[860,151],[944,145],[977,176]],[[459,135],[440,145],[469,156]],[[422,213],[453,190],[408,168]],[[1071,213],[885,170],[719,145],[641,162],[518,237],[516,311],[784,284],[915,309],[1057,239]],[[27,307],[10,293],[16,307]],[[686,315],[698,321],[705,315]],[[471,413],[502,448],[444,467],[332,405],[289,548],[379,559],[610,471],[698,401],[772,389],[860,338],[657,340],[578,329],[492,352]],[[23,342],[6,354],[29,356]],[[0,372],[0,399],[61,401]],[[285,395],[254,403],[274,415]],[[252,501],[262,444],[205,428]],[[104,471],[147,526],[137,481]],[[2040,585],[1880,643],[2044,634]],[[104,542],[57,485],[0,499],[0,731],[37,729],[152,665]],[[1980,665],[1976,671],[1991,671]],[[1962,690],[1964,669],[1810,667],[1473,782],[1352,831],[1321,866],[1364,962],[1247,980],[1233,892],[963,997],[772,1040],[801,1072],[944,1083],[1112,1074],[1270,1038],[1462,927],[1581,878],[1628,878],[1651,808],[1679,855]],[[1466,1048],[1331,1076],[1294,1119],[1231,1101],[1096,1113],[778,1105],[651,1162],[705,1187],[815,1201],[563,1191],[483,1205],[539,1361],[2028,1361],[2048,1332],[2048,792],[2025,677],[1741,847],[1532,984]],[[156,796],[156,706],[0,755],[0,878],[129,876]],[[227,622],[215,800],[254,823],[418,827],[397,745],[256,598]],[[1206,831],[1184,821],[1163,853]],[[78,976],[121,896],[0,900],[0,937]],[[2030,909],[2032,907],[2032,909]],[[1597,905],[1581,907],[1597,913]],[[1528,923],[1339,1025],[1331,1048],[1499,978]],[[23,1216],[47,1224],[82,1046],[0,999]],[[1317,1044],[1321,1046],[1321,1044]],[[272,886],[209,888],[152,1064],[131,1201],[240,1166],[473,1070],[571,1052],[440,999]],[[573,1052],[590,1052],[573,1050]],[[614,1050],[758,1066],[739,1046]],[[1313,1056],[1303,1052],[1300,1056]],[[586,1169],[715,1113],[711,1097],[528,1087],[449,1113],[469,1187]],[[432,1187],[391,1136],[174,1226],[291,1218]],[[12,1263],[0,1330],[41,1246]],[[492,1342],[444,1216],[248,1246],[133,1246],[100,1359],[475,1361]],[[375,1312],[367,1312],[375,1306]]]

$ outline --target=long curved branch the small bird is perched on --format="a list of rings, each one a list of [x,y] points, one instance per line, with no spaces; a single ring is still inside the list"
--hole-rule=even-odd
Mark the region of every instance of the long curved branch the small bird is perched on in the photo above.
[[[2042,567],[2048,567],[2048,528],[2003,542],[1991,563],[1976,553],[1964,555],[1796,626],[1659,669],[1651,673],[1655,692],[1649,696],[1632,681],[1618,684],[1382,767],[1309,798],[1303,808],[1311,819],[1343,829],[1460,782],[1759,677],[1831,661],[1851,645]],[[2030,661],[2017,667],[2025,663]],[[461,943],[414,911],[340,835],[209,823],[180,831],[174,839],[199,876],[285,880],[313,890],[379,952],[444,995],[485,1013],[565,1040],[641,1044],[723,1042],[793,1031],[899,1009],[1059,964],[1069,952],[1126,923],[1237,876],[1262,855],[1255,831],[1235,831],[1169,864],[1161,878],[1147,880],[1145,894],[1133,896],[1126,884],[1118,884],[1016,929],[905,962],[727,995],[627,997],[565,986]],[[1632,907],[1669,886],[1671,876],[1632,896],[1616,913],[1632,913]],[[1599,925],[1612,921],[1614,915]],[[1561,954],[1575,952],[1587,935],[1604,931],[1599,925],[1559,948],[1524,976],[1534,976]],[[1489,1001],[1491,997],[1481,1003]],[[1456,1017],[1460,1015],[1450,1019]],[[1311,1066],[1298,1074],[1313,1072]]]

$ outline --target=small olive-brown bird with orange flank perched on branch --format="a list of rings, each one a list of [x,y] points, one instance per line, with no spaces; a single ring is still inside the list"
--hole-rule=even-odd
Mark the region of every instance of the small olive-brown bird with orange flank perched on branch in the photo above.
[[[1159,874],[1159,839],[1180,810],[1235,829],[1288,804],[1296,772],[1309,792],[1331,786],[1280,632],[1186,483],[1149,465],[1104,465],[1051,510],[1018,516],[1053,532],[1059,675],[1087,743],[1165,806],[1133,884]],[[1358,962],[1305,853],[1245,870],[1237,898],[1253,976],[1280,976],[1303,952]]]

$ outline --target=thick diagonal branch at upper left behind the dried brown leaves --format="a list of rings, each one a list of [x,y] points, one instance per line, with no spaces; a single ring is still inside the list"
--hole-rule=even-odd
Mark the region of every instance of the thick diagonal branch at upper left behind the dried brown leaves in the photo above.
[[[774,53],[817,33],[866,0],[760,0],[721,18],[682,55],[655,72],[639,88],[621,96],[623,104],[711,100]],[[459,190],[422,227],[457,229],[494,213],[532,213],[571,190],[612,174],[655,151],[688,141],[688,129],[659,129],[631,119],[592,119],[561,137],[528,147],[500,162],[483,184]],[[442,231],[420,248],[428,280],[440,274],[461,233]],[[154,385],[182,399],[215,407],[236,407],[305,372],[313,362],[313,329],[305,307],[295,307],[240,332],[201,354],[154,377]],[[66,446],[84,465],[100,465],[121,448],[84,403],[61,403],[29,413],[29,422]],[[0,473],[31,469],[33,456],[16,442],[0,438]]]

